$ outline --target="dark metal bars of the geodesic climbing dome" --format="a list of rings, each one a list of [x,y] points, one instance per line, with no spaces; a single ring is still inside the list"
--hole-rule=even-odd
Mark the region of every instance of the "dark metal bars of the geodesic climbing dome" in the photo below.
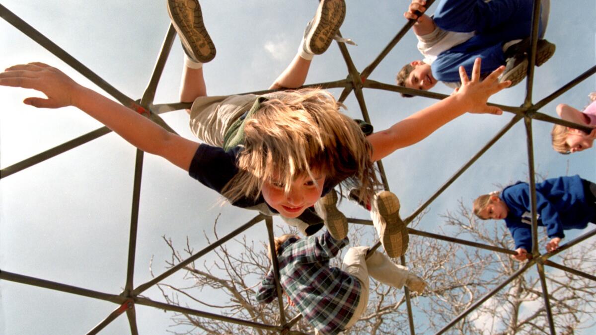
[[[427,6],[432,5],[433,0],[427,1]],[[540,108],[544,107],[546,104],[550,103],[552,100],[563,94],[564,92],[568,91],[569,89],[573,88],[577,83],[581,82],[582,80],[591,77],[596,73],[596,66],[592,66],[590,69],[583,72],[581,75],[577,76],[575,79],[557,89],[557,91],[552,92],[552,94],[548,95],[541,101],[537,103],[532,103],[532,88],[534,85],[534,65],[535,65],[535,54],[536,54],[536,44],[538,41],[538,20],[536,19],[539,15],[539,1],[535,1],[534,4],[534,20],[533,20],[533,27],[532,27],[532,51],[530,52],[530,66],[527,75],[527,85],[526,85],[526,97],[523,101],[522,106],[515,107],[515,106],[502,106],[499,105],[498,107],[502,108],[502,110],[507,111],[508,113],[513,114],[512,119],[504,128],[501,129],[486,145],[484,145],[473,157],[471,157],[468,162],[465,162],[464,165],[458,169],[454,175],[448,179],[432,196],[430,196],[423,204],[421,204],[414,212],[412,212],[407,218],[404,219],[406,224],[411,223],[414,221],[417,216],[419,216],[443,191],[445,191],[458,177],[462,175],[470,166],[476,162],[495,142],[497,142],[501,137],[503,137],[514,125],[518,122],[523,120],[524,126],[526,128],[527,134],[527,151],[528,151],[528,158],[527,158],[527,165],[529,169],[529,176],[530,176],[530,190],[533,191],[532,197],[532,204],[533,204],[533,225],[532,225],[532,235],[533,235],[533,250],[532,255],[533,258],[525,263],[523,266],[520,267],[519,271],[515,272],[510,277],[506,278],[502,281],[501,284],[496,286],[493,290],[489,291],[485,294],[485,296],[478,299],[474,302],[470,308],[466,309],[462,312],[458,317],[454,318],[448,324],[439,330],[437,333],[441,334],[445,331],[448,331],[453,325],[457,324],[457,322],[461,321],[463,318],[467,317],[468,314],[473,312],[476,308],[481,306],[485,303],[488,299],[490,299],[493,294],[498,292],[499,290],[503,289],[507,286],[511,281],[523,275],[524,272],[528,271],[529,269],[536,266],[536,271],[541,279],[541,287],[542,287],[542,297],[544,299],[544,308],[547,311],[548,320],[549,320],[549,327],[550,333],[555,334],[557,330],[555,329],[554,322],[552,320],[553,315],[551,314],[550,306],[550,296],[548,294],[548,288],[546,284],[546,277],[545,277],[545,266],[551,266],[552,268],[560,269],[561,271],[566,271],[571,274],[575,274],[581,276],[583,278],[588,278],[589,280],[596,280],[596,277],[591,274],[587,274],[582,272],[578,269],[569,268],[567,266],[555,263],[554,261],[550,260],[552,256],[557,255],[558,253],[564,252],[565,250],[569,249],[570,247],[585,241],[589,237],[592,237],[596,234],[596,229],[593,231],[582,235],[574,240],[568,241],[563,246],[561,246],[558,250],[551,253],[541,254],[538,250],[538,227],[536,225],[536,197],[535,197],[535,181],[533,176],[535,175],[535,164],[534,164],[534,154],[533,154],[533,135],[532,135],[532,121],[533,120],[541,120],[545,122],[557,123],[564,126],[570,126],[573,128],[582,129],[584,131],[589,130],[585,126],[578,125],[572,122],[567,122],[565,120],[560,120],[547,114],[540,113]],[[77,61],[71,55],[69,55],[66,51],[60,48],[60,46],[54,44],[48,38],[45,38],[40,32],[35,30],[32,26],[27,24],[25,21],[21,20],[17,15],[13,14],[4,6],[0,5],[0,16],[4,18],[8,23],[12,24],[15,28],[29,36],[29,38],[33,39],[33,41],[37,42],[38,44],[44,46],[44,48],[48,49],[48,51],[52,52],[52,54],[56,55],[58,58],[69,64],[73,69],[76,69],[78,72],[82,73],[85,77],[89,80],[94,82],[96,85],[100,86],[100,88],[104,89],[105,92],[108,92],[112,97],[116,98],[124,106],[132,108],[138,113],[144,114],[144,116],[148,117],[149,119],[153,120],[157,124],[163,126],[163,128],[167,129],[170,132],[175,132],[170,126],[167,125],[166,122],[160,117],[160,114],[166,113],[167,111],[179,110],[182,108],[187,108],[190,104],[184,103],[171,103],[171,104],[153,104],[154,96],[156,93],[157,84],[159,83],[160,77],[162,75],[167,57],[169,55],[170,49],[172,48],[173,42],[175,40],[175,30],[172,26],[169,27],[169,30],[166,33],[166,36],[163,41],[162,50],[157,58],[156,66],[153,69],[153,75],[151,76],[150,82],[148,83],[147,88],[145,89],[144,95],[139,98],[138,100],[134,100],[130,97],[127,97],[122,92],[118,91],[116,88],[111,86],[109,83],[105,82],[105,80],[101,79],[101,77],[95,75],[88,67],[85,67],[82,63]],[[343,92],[339,97],[339,101],[344,101],[346,98],[353,92],[358,101],[359,107],[362,112],[362,117],[366,122],[373,123],[374,120],[371,120],[367,106],[364,98],[363,91],[364,89],[381,89],[385,91],[391,92],[399,92],[399,93],[406,93],[411,95],[417,95],[426,98],[432,99],[442,99],[445,98],[446,95],[437,94],[434,92],[425,92],[419,91],[416,89],[408,89],[403,88],[401,86],[391,85],[388,83],[381,83],[376,82],[374,80],[368,79],[371,73],[375,70],[378,64],[386,57],[386,55],[395,47],[396,44],[402,39],[402,37],[408,32],[408,30],[414,24],[413,21],[409,21],[406,23],[402,29],[395,35],[393,38],[384,48],[380,54],[374,58],[371,63],[362,70],[358,70],[355,67],[355,64],[352,62],[352,58],[346,48],[346,46],[342,43],[338,43],[340,51],[342,52],[343,58],[346,62],[346,66],[348,69],[347,78],[334,80],[330,82],[323,82],[323,83],[315,83],[308,86],[321,86],[322,88],[343,88]],[[258,91],[252,92],[256,94],[262,94],[269,91]],[[76,148],[79,145],[85,144],[86,142],[92,141],[93,139],[99,138],[105,134],[108,134],[110,129],[106,127],[101,127],[96,129],[95,131],[89,132],[88,134],[82,135],[77,138],[73,138],[70,141],[64,142],[61,145],[58,145],[54,148],[51,148],[47,151],[44,151],[40,154],[36,154],[35,156],[29,157],[28,159],[22,160],[21,162],[15,163],[14,165],[8,166],[0,170],[0,179],[7,178],[14,173],[18,173],[21,170],[30,168],[38,163],[44,162],[45,160],[52,159],[52,157],[58,156],[60,154],[69,151],[70,149]],[[106,300],[108,302],[114,303],[116,306],[114,311],[111,314],[107,315],[103,320],[98,322],[98,324],[88,331],[88,334],[95,334],[100,333],[101,330],[105,328],[106,325],[110,324],[111,321],[115,320],[119,315],[124,314],[126,315],[129,320],[131,333],[137,334],[138,329],[136,325],[136,312],[135,306],[136,305],[144,305],[144,306],[151,306],[157,309],[163,309],[165,311],[173,311],[179,312],[182,314],[189,314],[189,315],[197,315],[199,317],[205,318],[212,318],[213,320],[219,320],[222,322],[231,322],[235,324],[242,324],[247,325],[254,328],[259,328],[266,331],[272,332],[289,332],[292,331],[293,326],[300,320],[300,315],[297,317],[292,318],[291,320],[287,320],[287,317],[284,312],[284,303],[283,299],[281,298],[281,294],[278,294],[278,305],[279,305],[279,312],[280,312],[280,324],[262,324],[259,322],[254,322],[250,320],[240,320],[237,318],[231,318],[224,315],[217,315],[210,312],[200,311],[198,309],[191,309],[191,308],[184,308],[177,305],[172,305],[169,303],[162,303],[157,302],[147,297],[142,296],[142,293],[149,289],[150,287],[156,286],[156,284],[160,283],[160,281],[164,280],[165,278],[169,277],[170,275],[174,274],[176,271],[183,269],[188,264],[194,262],[195,260],[200,259],[207,253],[212,252],[216,248],[224,245],[226,242],[232,240],[232,238],[236,237],[237,235],[242,234],[246,229],[252,227],[253,225],[259,224],[260,222],[265,222],[265,225],[268,229],[268,237],[269,243],[272,244],[273,238],[273,224],[272,218],[265,215],[256,215],[252,219],[246,222],[246,224],[241,225],[234,231],[230,232],[229,234],[225,235],[224,237],[219,238],[217,241],[210,244],[208,247],[200,250],[197,253],[194,253],[193,256],[185,259],[184,261],[178,263],[177,265],[173,266],[172,268],[164,271],[162,274],[157,275],[153,280],[148,281],[147,283],[141,284],[139,286],[134,287],[133,283],[133,274],[135,269],[135,250],[136,250],[136,235],[138,231],[138,211],[139,211],[139,197],[141,192],[141,173],[142,173],[142,166],[143,166],[143,156],[144,153],[140,150],[136,151],[136,162],[135,162],[135,176],[134,176],[134,192],[133,192],[133,201],[132,201],[132,215],[131,215],[131,224],[130,224],[130,235],[129,235],[129,245],[128,245],[128,259],[122,260],[128,266],[126,282],[124,284],[124,290],[120,293],[105,293],[100,291],[94,291],[85,289],[83,287],[75,287],[70,286],[66,283],[56,283],[49,280],[44,280],[43,278],[33,278],[28,277],[27,275],[17,274],[10,272],[10,269],[2,269],[0,271],[0,279],[13,281],[15,283],[21,283],[31,286],[38,286],[45,289],[51,289],[56,291],[61,291],[64,293],[72,293],[78,294],[80,296],[94,298],[94,299],[101,299]],[[378,169],[381,173],[381,179],[384,184],[384,188],[389,190],[390,183],[387,180],[384,172],[384,167],[381,162],[378,162]],[[358,219],[353,218],[349,219],[352,224],[364,224],[364,225],[371,225],[371,221],[367,219]],[[411,235],[419,235],[425,238],[434,238],[437,240],[449,241],[452,243],[462,244],[465,246],[475,247],[483,250],[491,250],[492,252],[502,253],[504,255],[514,255],[515,252],[513,250],[503,249],[500,247],[491,246],[488,244],[479,243],[476,241],[468,241],[462,240],[461,238],[454,238],[448,237],[439,234],[432,234],[430,232],[424,232],[417,229],[409,229],[409,234]],[[380,243],[377,243],[373,250],[380,246]],[[403,264],[406,263],[406,257],[402,256],[401,262]],[[274,271],[278,272],[278,264],[277,262],[273,262],[274,264]],[[278,292],[280,292],[279,283],[277,283]],[[405,288],[405,299],[406,299],[406,306],[407,311],[409,314],[409,330],[411,334],[414,334],[414,317],[412,316],[412,309],[410,303],[410,294],[407,288]],[[98,318],[99,319],[99,318]]]

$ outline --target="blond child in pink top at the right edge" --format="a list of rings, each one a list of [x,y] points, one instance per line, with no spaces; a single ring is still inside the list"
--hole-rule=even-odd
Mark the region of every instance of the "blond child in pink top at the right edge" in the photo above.
[[[576,153],[592,147],[596,138],[596,92],[589,95],[591,104],[583,111],[559,104],[557,114],[563,120],[579,123],[580,125],[591,126],[592,131],[589,134],[585,132],[561,125],[552,126],[552,148],[561,154]]]

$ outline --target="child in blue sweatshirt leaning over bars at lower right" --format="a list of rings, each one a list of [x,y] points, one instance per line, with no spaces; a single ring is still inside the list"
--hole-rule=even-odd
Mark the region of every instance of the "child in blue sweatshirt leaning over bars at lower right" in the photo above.
[[[505,187],[501,193],[484,194],[474,200],[474,214],[480,219],[504,219],[516,241],[517,260],[527,259],[532,250],[532,212],[527,182]],[[596,184],[575,176],[547,179],[536,184],[538,225],[547,227],[551,240],[547,251],[558,248],[566,229],[583,229],[596,223]]]

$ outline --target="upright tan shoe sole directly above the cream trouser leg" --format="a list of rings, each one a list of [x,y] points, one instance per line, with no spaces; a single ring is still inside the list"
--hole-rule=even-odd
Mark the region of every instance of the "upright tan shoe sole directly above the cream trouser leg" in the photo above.
[[[408,250],[408,228],[399,217],[399,199],[389,192],[382,191],[375,199],[378,213],[381,216],[381,227],[378,232],[381,244],[387,256],[398,258]]]

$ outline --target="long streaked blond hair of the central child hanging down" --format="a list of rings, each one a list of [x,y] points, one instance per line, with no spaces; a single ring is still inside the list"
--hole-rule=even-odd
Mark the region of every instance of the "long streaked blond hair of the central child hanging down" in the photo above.
[[[231,203],[242,197],[257,199],[263,184],[284,184],[315,172],[325,183],[358,188],[371,198],[379,184],[371,161],[373,148],[358,124],[340,113],[340,104],[322,89],[280,92],[263,102],[244,125],[244,149],[238,154],[238,173],[224,188]],[[319,185],[322,187],[322,185]]]

